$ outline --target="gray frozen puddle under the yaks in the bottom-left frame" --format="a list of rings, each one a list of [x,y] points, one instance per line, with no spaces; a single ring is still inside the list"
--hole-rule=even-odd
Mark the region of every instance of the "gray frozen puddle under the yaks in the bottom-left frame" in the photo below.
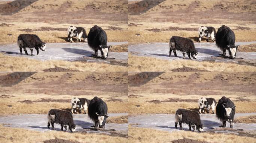
[[[109,117],[128,115],[127,113],[110,113]],[[73,114],[74,123],[76,124],[76,131],[83,131],[83,128],[89,128],[94,125],[92,120],[88,118],[88,114]],[[21,115],[7,115],[0,116],[0,124],[6,127],[25,128],[36,131],[50,131],[47,128],[47,114],[21,114]],[[60,124],[54,124],[55,130],[61,130]],[[50,126],[50,129],[52,127]],[[106,124],[105,129],[115,129],[117,131],[127,131],[128,124]],[[65,130],[65,129],[64,129]],[[86,130],[87,131],[87,130]],[[100,132],[104,131],[89,131]]]

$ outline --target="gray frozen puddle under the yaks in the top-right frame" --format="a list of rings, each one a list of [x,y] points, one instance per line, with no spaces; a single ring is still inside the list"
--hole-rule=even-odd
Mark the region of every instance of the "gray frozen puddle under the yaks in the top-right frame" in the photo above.
[[[235,45],[247,45],[254,44],[253,42],[235,42]],[[195,43],[195,48],[198,50],[198,57],[196,60],[215,60],[215,61],[233,61],[231,59],[223,59],[216,60],[219,54],[222,52],[219,48],[216,47],[213,42],[204,42],[204,43]],[[176,51],[177,56],[175,57],[173,52],[171,57],[169,57],[169,44],[168,43],[149,43],[149,44],[137,44],[137,45],[129,45],[128,52],[132,53],[132,55],[144,56],[144,57],[155,57],[163,60],[183,60],[183,55],[180,51]],[[226,55],[229,56],[228,51],[226,51]],[[236,58],[244,58],[246,60],[256,59],[256,52],[237,52]],[[188,55],[186,55],[186,59],[188,59]]]

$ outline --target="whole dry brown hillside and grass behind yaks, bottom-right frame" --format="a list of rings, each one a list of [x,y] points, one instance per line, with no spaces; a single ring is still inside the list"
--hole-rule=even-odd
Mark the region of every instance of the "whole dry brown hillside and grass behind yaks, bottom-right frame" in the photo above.
[[[201,97],[230,98],[236,112],[255,112],[255,72],[129,73],[129,114],[173,114],[178,108],[198,111]],[[237,88],[239,87],[239,88]]]

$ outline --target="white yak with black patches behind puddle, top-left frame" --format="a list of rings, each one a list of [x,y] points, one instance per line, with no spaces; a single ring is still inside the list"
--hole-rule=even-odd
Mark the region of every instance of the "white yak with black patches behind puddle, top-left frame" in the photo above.
[[[87,42],[87,34],[83,27],[69,26],[67,29],[68,41],[73,42],[72,38],[76,38],[77,42],[81,42],[83,38],[84,42]]]

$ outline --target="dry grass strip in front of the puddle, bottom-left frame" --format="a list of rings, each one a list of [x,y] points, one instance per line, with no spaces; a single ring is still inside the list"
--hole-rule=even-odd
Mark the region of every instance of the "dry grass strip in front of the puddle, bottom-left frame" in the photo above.
[[[119,143],[128,142],[127,138],[112,137],[105,134],[81,134],[78,132],[67,133],[64,131],[33,131],[21,128],[3,127],[0,125],[1,143],[42,143],[49,139],[64,139],[73,142],[97,142],[97,143]]]

